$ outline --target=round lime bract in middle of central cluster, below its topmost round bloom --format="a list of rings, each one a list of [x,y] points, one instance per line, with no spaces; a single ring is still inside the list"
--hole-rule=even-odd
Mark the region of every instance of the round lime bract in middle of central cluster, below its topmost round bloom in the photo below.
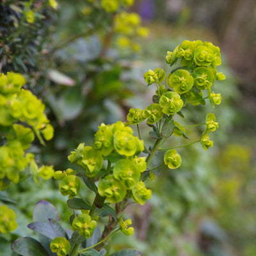
[[[113,170],[115,179],[124,183],[127,189],[131,189],[140,180],[140,171],[130,159],[120,159],[116,162]]]

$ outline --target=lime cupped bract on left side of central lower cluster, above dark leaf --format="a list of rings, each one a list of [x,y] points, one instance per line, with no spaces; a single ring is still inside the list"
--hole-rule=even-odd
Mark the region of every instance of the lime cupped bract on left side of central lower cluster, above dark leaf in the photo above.
[[[94,177],[102,168],[103,157],[99,150],[86,146],[83,150],[83,158],[78,163],[84,168],[87,177]]]

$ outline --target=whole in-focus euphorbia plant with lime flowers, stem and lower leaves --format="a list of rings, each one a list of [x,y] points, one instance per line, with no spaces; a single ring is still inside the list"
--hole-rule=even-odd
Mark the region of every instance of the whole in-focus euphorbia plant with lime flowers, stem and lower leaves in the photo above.
[[[212,147],[213,141],[210,140],[209,134],[219,127],[213,113],[208,113],[200,124],[182,125],[174,119],[177,115],[185,118],[182,109],[188,105],[205,105],[206,100],[211,102],[213,108],[215,104],[220,104],[220,94],[212,92],[211,89],[216,80],[225,79],[222,73],[216,71],[216,66],[221,64],[220,49],[210,42],[186,40],[173,52],[168,52],[166,61],[171,67],[176,63],[180,66],[176,66],[168,76],[161,68],[148,70],[144,76],[148,86],[156,84],[153,103],[145,109],[130,109],[127,114],[128,122],[101,124],[95,133],[93,145],[80,143],[68,156],[70,163],[78,164],[80,168],[74,166],[77,171],[68,168],[55,172],[54,178],[60,180],[60,192],[62,195],[68,195],[67,204],[73,209],[70,216],[73,231],[63,232],[60,224],[52,224],[52,218],[44,222],[47,227],[44,229],[41,228],[40,222],[31,223],[29,228],[49,237],[47,242],[44,240],[43,246],[45,253],[47,250],[51,251],[50,254],[44,255],[51,255],[51,252],[70,256],[109,255],[104,249],[109,237],[118,230],[127,236],[134,232],[130,227],[131,219],[123,220],[122,217],[127,205],[131,202],[144,205],[152,195],[152,191],[145,186],[145,181],[154,180],[157,167],[150,169],[150,166],[156,152],[164,151],[163,164],[170,169],[176,169],[182,164],[177,148],[197,142],[202,144],[204,150]],[[163,84],[164,79],[167,88]],[[140,135],[139,124],[145,120],[152,128],[149,135],[155,140],[154,145],[150,147],[145,147]],[[129,125],[137,126],[138,137],[134,136]],[[185,145],[164,147],[164,143],[167,143],[172,135],[190,140],[185,128],[199,125],[205,125],[205,129],[197,140]],[[93,191],[94,199],[91,202],[81,196],[81,182]],[[47,207],[53,206],[47,204]],[[100,231],[99,223],[102,221],[105,225]],[[24,239],[18,239],[12,244],[15,252],[24,252]],[[28,242],[28,238],[26,241]],[[30,246],[33,244],[36,242],[29,242]],[[140,255],[137,250],[122,250],[111,255],[127,255],[127,252],[129,255]]]

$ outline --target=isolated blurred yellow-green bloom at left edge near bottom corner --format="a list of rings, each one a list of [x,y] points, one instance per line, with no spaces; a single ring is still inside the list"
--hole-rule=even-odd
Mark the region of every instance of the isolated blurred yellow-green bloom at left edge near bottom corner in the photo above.
[[[0,205],[0,233],[12,232],[17,226],[15,212],[6,205]]]

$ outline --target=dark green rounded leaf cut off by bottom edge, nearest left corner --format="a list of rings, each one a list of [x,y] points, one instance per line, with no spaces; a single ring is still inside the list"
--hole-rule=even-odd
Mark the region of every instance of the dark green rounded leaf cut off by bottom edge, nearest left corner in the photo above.
[[[15,240],[11,248],[13,252],[22,256],[49,256],[44,247],[31,237],[22,237]]]

